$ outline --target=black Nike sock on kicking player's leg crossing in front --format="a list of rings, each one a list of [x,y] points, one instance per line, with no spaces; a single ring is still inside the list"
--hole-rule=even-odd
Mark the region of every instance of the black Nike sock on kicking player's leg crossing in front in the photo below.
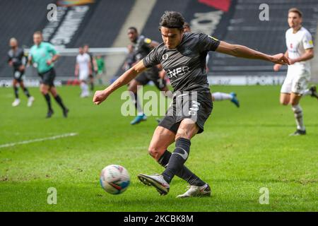
[[[163,178],[167,183],[170,183],[172,178],[184,167],[189,152],[191,141],[186,138],[178,138],[175,141],[175,151],[172,153],[165,171],[163,172]]]

